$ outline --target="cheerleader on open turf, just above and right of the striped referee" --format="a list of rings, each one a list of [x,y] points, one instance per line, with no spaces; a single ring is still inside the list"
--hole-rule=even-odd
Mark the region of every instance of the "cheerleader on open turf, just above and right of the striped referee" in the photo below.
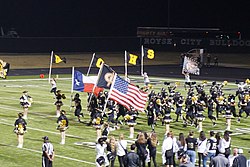
[[[66,137],[65,131],[69,128],[68,127],[69,121],[65,114],[66,112],[62,110],[61,115],[57,119],[57,123],[58,123],[57,130],[59,130],[61,133],[60,144],[65,144],[65,137]]]

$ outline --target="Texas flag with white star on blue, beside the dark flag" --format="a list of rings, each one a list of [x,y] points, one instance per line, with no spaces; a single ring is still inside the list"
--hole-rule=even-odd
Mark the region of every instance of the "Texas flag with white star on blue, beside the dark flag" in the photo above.
[[[80,71],[74,71],[73,90],[79,92],[93,92],[93,88],[97,82],[97,76],[84,76]],[[98,95],[103,88],[95,87],[94,94]]]

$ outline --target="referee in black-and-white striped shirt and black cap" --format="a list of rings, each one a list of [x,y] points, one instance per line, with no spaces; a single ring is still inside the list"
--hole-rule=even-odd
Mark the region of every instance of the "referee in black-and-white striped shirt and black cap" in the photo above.
[[[53,145],[49,142],[48,136],[44,136],[42,139],[44,140],[42,146],[42,167],[52,167],[52,162],[55,157]]]

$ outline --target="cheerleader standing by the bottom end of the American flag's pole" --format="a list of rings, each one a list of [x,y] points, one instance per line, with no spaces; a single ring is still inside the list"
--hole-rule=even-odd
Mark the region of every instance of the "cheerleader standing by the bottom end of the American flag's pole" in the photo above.
[[[93,127],[96,129],[97,140],[101,137],[101,128],[103,125],[102,106],[96,108],[95,115],[92,121]]]

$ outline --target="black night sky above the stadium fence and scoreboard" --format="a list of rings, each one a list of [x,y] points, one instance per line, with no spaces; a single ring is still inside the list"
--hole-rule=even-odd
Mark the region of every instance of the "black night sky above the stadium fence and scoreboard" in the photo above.
[[[23,37],[94,37],[136,36],[137,27],[169,24],[240,31],[250,38],[249,7],[247,0],[5,0],[0,26]]]

